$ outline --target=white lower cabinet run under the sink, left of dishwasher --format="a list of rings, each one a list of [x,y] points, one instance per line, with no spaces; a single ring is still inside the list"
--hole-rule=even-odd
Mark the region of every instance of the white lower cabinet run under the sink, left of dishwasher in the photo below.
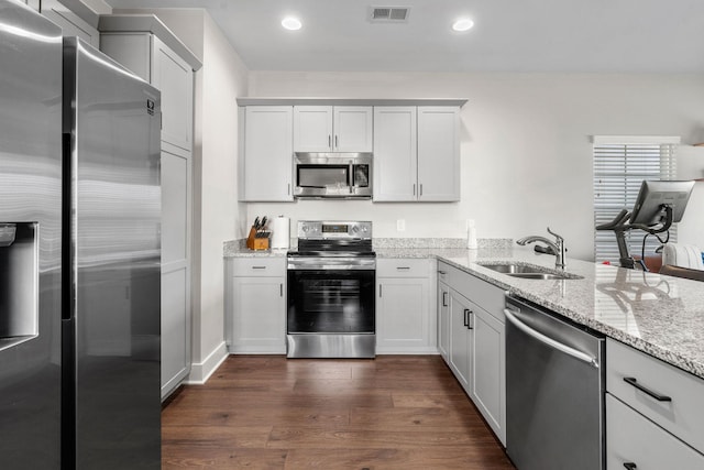
[[[438,263],[438,349],[502,444],[506,444],[504,292]],[[447,351],[443,353],[443,351]]]

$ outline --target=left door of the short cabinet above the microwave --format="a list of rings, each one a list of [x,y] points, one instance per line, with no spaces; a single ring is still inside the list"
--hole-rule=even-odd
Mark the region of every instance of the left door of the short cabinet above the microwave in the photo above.
[[[332,152],[332,107],[294,107],[294,152]]]

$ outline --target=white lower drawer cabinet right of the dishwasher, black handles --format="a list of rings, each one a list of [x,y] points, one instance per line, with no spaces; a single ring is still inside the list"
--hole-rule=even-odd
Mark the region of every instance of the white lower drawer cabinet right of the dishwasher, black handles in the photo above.
[[[704,381],[606,340],[608,468],[704,469]]]

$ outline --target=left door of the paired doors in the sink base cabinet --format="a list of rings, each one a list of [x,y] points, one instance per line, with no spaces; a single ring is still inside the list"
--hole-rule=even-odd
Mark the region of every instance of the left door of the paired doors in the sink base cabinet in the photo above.
[[[462,387],[470,393],[470,354],[472,352],[469,320],[471,303],[454,291],[450,291],[450,368]]]

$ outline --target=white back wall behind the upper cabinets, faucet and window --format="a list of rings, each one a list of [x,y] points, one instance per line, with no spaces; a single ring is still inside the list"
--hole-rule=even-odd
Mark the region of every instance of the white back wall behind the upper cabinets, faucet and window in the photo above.
[[[463,237],[469,218],[475,219],[480,238],[546,234],[550,226],[565,238],[570,256],[590,260],[590,136],[681,135],[692,143],[702,128],[704,79],[701,75],[252,72],[249,95],[469,100],[462,110],[460,203],[250,204],[250,222],[257,215],[286,215],[294,223],[306,218],[371,219],[378,237]],[[405,232],[396,231],[396,219],[406,220]]]

